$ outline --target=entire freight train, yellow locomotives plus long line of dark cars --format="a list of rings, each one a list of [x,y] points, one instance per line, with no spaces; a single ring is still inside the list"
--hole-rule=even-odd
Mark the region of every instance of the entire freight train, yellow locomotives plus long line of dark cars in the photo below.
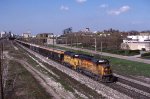
[[[62,51],[16,40],[21,45],[49,58],[64,66],[83,73],[97,81],[113,82],[114,76],[107,59],[96,59],[93,56]]]

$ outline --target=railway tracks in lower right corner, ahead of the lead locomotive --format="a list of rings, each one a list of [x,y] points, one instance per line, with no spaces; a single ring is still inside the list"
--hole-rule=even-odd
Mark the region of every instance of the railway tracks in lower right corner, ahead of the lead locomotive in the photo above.
[[[117,75],[117,74],[115,74]],[[118,77],[119,75],[117,75]],[[126,78],[126,77],[125,77]],[[94,80],[94,79],[93,79]],[[103,83],[106,86],[109,86],[110,88],[117,90],[121,93],[124,93],[131,98],[136,99],[150,99],[150,88],[148,84],[145,84],[143,82],[135,81],[134,79],[121,78],[118,77],[118,81],[115,83]],[[138,82],[138,83],[137,83]],[[102,82],[99,82],[102,83]],[[147,86],[146,86],[147,85]]]

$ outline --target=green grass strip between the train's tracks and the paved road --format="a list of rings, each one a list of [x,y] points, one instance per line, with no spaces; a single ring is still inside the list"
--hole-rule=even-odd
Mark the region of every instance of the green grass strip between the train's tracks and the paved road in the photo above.
[[[72,49],[59,47],[59,46],[55,46],[55,48],[93,55],[88,52],[72,50]],[[119,58],[114,58],[114,57],[108,57],[108,56],[102,56],[102,58],[109,59],[110,64],[112,65],[113,71],[118,74],[124,74],[128,76],[133,75],[133,76],[150,77],[150,73],[149,73],[150,65],[149,64],[124,60],[124,59],[119,59]]]

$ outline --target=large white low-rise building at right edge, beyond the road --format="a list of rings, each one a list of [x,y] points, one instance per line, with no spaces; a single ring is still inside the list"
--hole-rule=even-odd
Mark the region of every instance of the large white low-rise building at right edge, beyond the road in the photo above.
[[[123,40],[121,48],[130,50],[145,49],[146,51],[150,51],[150,36],[127,36],[127,39]]]

